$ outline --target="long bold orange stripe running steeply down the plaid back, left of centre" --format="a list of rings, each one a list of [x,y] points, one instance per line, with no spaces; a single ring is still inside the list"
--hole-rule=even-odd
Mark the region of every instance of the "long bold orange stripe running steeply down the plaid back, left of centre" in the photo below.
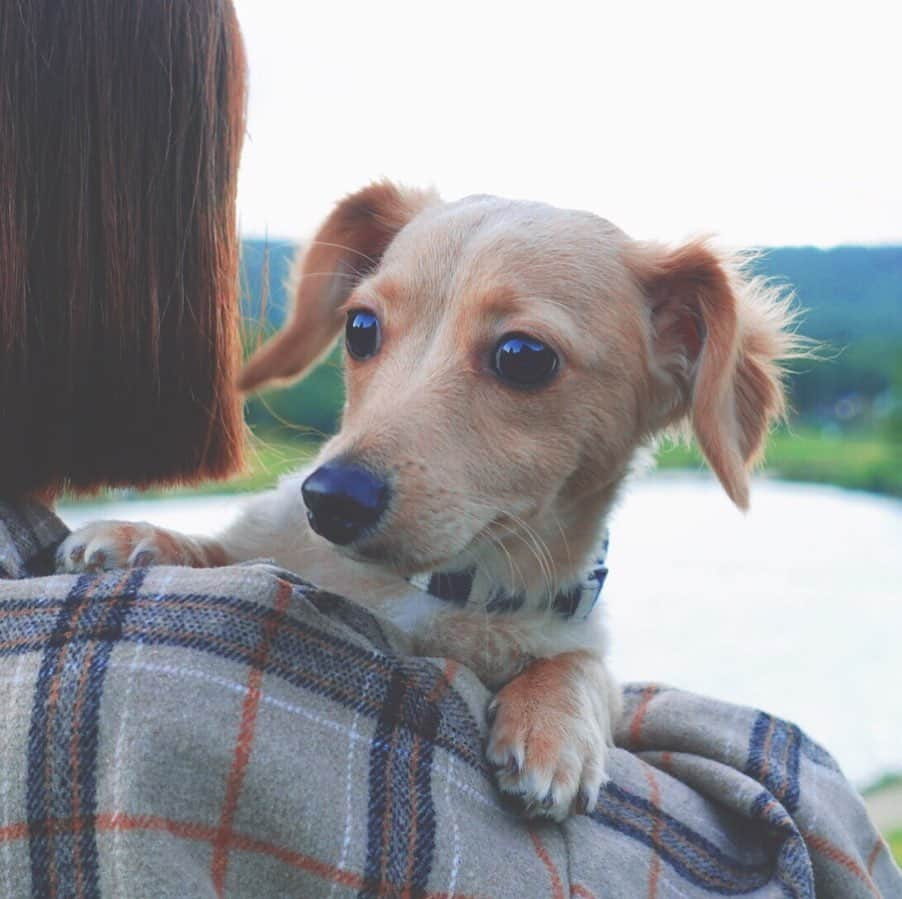
[[[244,775],[251,756],[251,747],[254,744],[254,728],[257,723],[257,712],[260,708],[260,684],[263,680],[263,666],[266,664],[266,657],[269,655],[272,638],[279,626],[282,615],[288,608],[290,600],[291,585],[286,581],[279,581],[274,607],[275,615],[267,617],[264,621],[260,643],[254,651],[250,676],[248,677],[247,693],[245,693],[241,709],[241,724],[238,728],[238,739],[235,742],[232,770],[229,771],[229,777],[226,781],[226,795],[222,806],[222,817],[219,821],[219,831],[213,842],[213,860],[210,863],[210,875],[213,878],[213,889],[216,890],[217,896],[222,896],[225,888],[232,825],[235,821],[238,797],[241,795]]]

